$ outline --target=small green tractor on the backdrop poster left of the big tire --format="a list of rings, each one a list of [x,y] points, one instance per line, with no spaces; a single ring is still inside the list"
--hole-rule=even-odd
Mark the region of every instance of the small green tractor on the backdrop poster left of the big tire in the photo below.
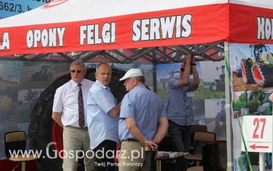
[[[40,66],[40,71],[31,75],[30,81],[51,81],[52,72],[50,66]]]

